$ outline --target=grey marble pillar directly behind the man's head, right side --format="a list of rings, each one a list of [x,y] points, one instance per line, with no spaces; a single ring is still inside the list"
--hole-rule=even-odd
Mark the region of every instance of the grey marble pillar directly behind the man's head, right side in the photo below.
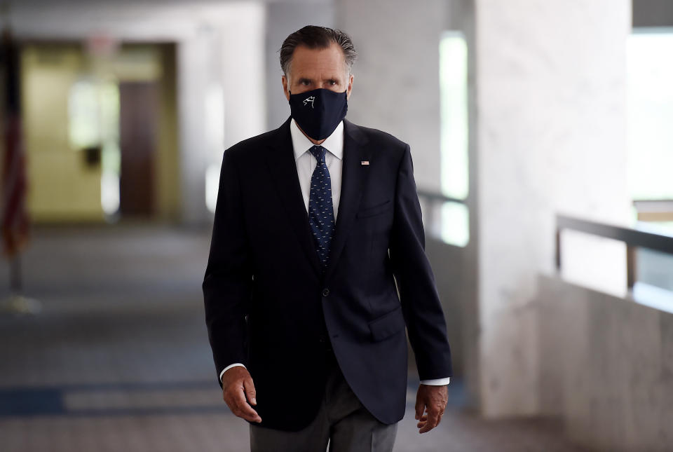
[[[351,35],[348,119],[409,143],[419,188],[440,191],[439,45],[447,22],[443,0],[337,0],[337,27]]]

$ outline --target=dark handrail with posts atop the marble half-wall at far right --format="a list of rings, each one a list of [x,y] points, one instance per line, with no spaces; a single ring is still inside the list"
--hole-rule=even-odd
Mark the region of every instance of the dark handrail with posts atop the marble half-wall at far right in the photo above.
[[[569,217],[562,214],[556,216],[556,268],[561,270],[561,231],[571,229],[599,237],[619,240],[626,244],[627,285],[633,289],[636,282],[637,248],[648,248],[658,252],[673,254],[673,235],[660,231],[644,231],[623,226],[613,226],[597,221]]]

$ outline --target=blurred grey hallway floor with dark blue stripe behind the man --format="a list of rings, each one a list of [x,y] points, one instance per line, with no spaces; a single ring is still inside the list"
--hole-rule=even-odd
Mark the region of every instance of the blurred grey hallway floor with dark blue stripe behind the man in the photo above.
[[[42,311],[0,313],[0,450],[249,450],[205,331],[209,243],[210,231],[142,224],[36,229],[22,268]],[[419,435],[409,380],[397,452],[583,450],[552,420],[465,413],[459,381],[440,426]]]

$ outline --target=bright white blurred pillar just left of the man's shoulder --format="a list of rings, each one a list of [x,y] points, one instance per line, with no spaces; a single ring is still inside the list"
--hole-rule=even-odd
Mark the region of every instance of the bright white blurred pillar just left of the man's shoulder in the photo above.
[[[210,11],[196,33],[179,43],[184,224],[212,217],[205,204],[207,168],[219,167],[224,149],[266,131],[263,31],[263,4],[232,3]],[[221,109],[222,118],[216,113]]]

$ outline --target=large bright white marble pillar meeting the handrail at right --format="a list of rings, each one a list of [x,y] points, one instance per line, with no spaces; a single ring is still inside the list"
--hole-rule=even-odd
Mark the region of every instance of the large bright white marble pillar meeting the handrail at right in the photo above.
[[[475,20],[482,408],[533,414],[532,301],[536,275],[553,271],[555,214],[630,218],[630,1],[475,0]],[[608,269],[620,281],[623,254],[601,247],[588,270]]]

